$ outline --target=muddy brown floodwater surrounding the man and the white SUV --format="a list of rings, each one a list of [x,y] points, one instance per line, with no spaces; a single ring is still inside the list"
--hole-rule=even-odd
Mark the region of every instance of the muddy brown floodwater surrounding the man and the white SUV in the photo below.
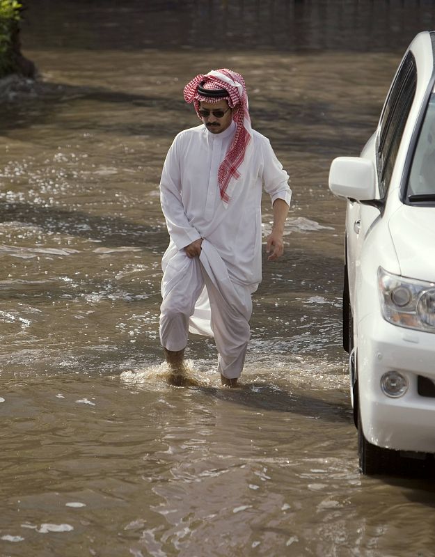
[[[40,80],[0,105],[0,556],[434,556],[434,484],[358,472],[345,204],[327,187],[433,3],[28,4]],[[182,87],[221,67],[244,75],[293,203],[241,388],[220,386],[200,337],[177,388],[159,347],[159,175],[198,123]],[[266,196],[262,210],[265,238]]]

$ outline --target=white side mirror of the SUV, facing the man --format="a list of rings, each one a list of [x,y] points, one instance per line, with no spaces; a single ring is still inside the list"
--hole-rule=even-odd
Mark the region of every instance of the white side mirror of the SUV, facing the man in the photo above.
[[[329,189],[338,197],[350,201],[377,201],[374,164],[360,157],[338,157],[333,159],[329,170]]]

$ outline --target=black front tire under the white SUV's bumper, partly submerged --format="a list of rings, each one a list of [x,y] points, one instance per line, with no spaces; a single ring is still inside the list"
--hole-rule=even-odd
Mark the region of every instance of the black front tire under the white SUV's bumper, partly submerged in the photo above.
[[[372,445],[365,439],[361,411],[358,413],[358,454],[360,470],[367,476],[397,476],[402,473],[400,451]]]

